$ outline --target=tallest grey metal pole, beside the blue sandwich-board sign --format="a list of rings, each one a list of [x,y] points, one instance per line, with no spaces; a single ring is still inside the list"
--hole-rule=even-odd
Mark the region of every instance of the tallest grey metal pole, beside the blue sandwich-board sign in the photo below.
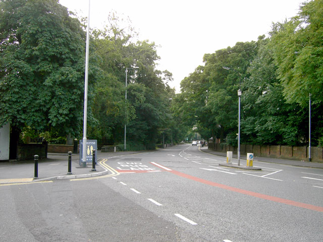
[[[89,33],[90,33],[90,0],[89,0],[89,13],[87,18],[87,30],[86,30],[82,166],[86,166],[87,83],[88,83],[88,69],[89,69],[89,36],[90,36]]]

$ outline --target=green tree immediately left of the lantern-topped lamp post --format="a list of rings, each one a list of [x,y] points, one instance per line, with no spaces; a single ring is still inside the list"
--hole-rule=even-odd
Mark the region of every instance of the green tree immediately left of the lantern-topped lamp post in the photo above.
[[[206,103],[211,112],[214,133],[223,141],[230,134],[237,133],[238,127],[238,96],[237,90],[244,91],[244,79],[248,78],[247,68],[257,54],[258,43],[237,42],[235,46],[217,50],[213,54],[206,55],[205,69],[210,87],[209,97]],[[229,67],[236,71],[224,70]]]

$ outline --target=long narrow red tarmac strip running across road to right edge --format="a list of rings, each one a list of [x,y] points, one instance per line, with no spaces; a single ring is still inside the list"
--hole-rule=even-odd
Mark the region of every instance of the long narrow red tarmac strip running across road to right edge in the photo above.
[[[284,198],[278,198],[278,197],[274,197],[274,196],[269,196],[269,195],[265,195],[265,194],[261,194],[261,193],[255,193],[255,192],[251,192],[251,191],[247,191],[247,190],[243,190],[240,188],[234,188],[234,187],[230,187],[227,185],[223,185],[220,183],[213,183],[213,181],[209,181],[209,180],[204,180],[202,178],[198,178],[192,175],[188,175],[176,170],[168,170],[169,172],[187,178],[187,179],[191,179],[191,180],[195,180],[198,181],[199,183],[203,183],[209,186],[213,186],[213,187],[218,187],[218,188],[222,188],[225,190],[229,190],[229,191],[233,191],[236,193],[242,193],[248,196],[252,196],[252,197],[256,197],[256,198],[261,198],[261,199],[265,199],[265,200],[269,200],[269,201],[274,201],[274,202],[278,202],[278,203],[284,203],[287,205],[291,205],[291,206],[295,206],[295,207],[300,207],[300,208],[306,208],[306,209],[310,209],[310,210],[314,210],[314,211],[318,211],[318,212],[323,212],[323,207],[319,207],[319,206],[314,206],[311,204],[306,204],[306,203],[300,203],[300,202],[295,202],[292,200],[288,200],[288,199],[284,199]]]

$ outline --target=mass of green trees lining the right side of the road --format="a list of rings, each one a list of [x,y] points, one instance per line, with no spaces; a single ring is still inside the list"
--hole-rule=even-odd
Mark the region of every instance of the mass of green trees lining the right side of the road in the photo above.
[[[174,114],[204,139],[236,146],[241,81],[241,142],[305,145],[311,93],[311,142],[322,144],[322,11],[322,0],[310,1],[290,21],[274,23],[268,38],[205,54],[205,65],[181,82]]]

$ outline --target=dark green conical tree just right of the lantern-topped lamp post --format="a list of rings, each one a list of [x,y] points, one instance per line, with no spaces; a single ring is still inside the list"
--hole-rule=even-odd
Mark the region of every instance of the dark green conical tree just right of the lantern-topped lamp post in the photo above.
[[[303,140],[304,110],[288,104],[277,78],[270,38],[260,36],[242,95],[241,140],[249,144],[296,145]],[[297,110],[297,111],[295,111]]]

